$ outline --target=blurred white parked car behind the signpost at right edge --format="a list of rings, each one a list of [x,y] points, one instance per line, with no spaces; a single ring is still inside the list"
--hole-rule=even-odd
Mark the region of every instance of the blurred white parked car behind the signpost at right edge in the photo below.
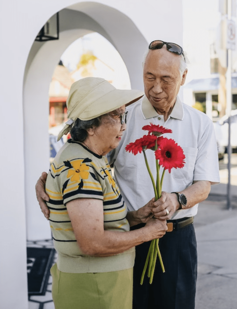
[[[237,148],[237,109],[231,111],[231,147]],[[228,116],[225,115],[219,119],[219,121],[214,122],[214,128],[216,133],[216,140],[219,151],[226,151],[228,146],[229,137],[229,126],[228,126]],[[224,152],[225,152],[224,151]]]

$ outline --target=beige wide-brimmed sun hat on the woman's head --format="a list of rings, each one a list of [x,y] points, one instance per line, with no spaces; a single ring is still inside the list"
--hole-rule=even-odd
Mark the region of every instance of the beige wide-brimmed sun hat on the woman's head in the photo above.
[[[67,134],[77,118],[91,120],[108,112],[136,102],[143,91],[119,90],[103,78],[87,77],[73,83],[67,97],[67,117],[64,128],[58,135],[59,139]]]

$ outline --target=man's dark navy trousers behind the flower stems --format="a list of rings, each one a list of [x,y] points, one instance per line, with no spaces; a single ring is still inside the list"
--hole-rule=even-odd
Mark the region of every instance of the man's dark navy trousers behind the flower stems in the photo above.
[[[132,227],[136,229],[140,225]],[[147,273],[140,285],[150,242],[136,247],[133,271],[133,309],[194,309],[197,280],[197,244],[193,224],[167,232],[159,240],[165,267],[157,257],[152,284]]]

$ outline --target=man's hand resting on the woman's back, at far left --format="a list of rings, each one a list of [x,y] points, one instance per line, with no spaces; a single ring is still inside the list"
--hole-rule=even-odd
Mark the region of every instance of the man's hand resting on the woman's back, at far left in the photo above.
[[[41,211],[43,212],[45,218],[49,219],[49,209],[45,201],[49,201],[49,196],[45,193],[45,183],[46,183],[47,173],[43,172],[35,185],[36,197],[39,202]]]

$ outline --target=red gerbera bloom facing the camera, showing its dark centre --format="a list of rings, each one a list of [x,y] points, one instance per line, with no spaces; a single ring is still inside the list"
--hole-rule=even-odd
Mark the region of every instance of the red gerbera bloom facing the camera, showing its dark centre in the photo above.
[[[156,159],[159,160],[159,165],[162,165],[165,170],[171,172],[171,168],[184,167],[185,155],[183,150],[173,139],[163,138],[159,144],[159,148],[155,151]]]

